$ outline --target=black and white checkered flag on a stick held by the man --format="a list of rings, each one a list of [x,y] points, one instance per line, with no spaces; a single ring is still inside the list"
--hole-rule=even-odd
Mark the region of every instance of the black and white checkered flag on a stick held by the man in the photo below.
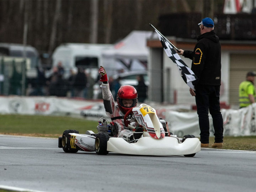
[[[151,25],[151,24],[150,24]],[[186,65],[185,62],[180,58],[180,55],[177,54],[176,50],[178,50],[171,42],[169,42],[165,36],[163,36],[153,25],[151,25],[155,32],[158,35],[159,40],[161,41],[162,47],[165,50],[167,56],[176,64],[182,79],[186,82],[186,84],[193,90],[194,85],[197,83],[197,76],[194,72]],[[175,50],[176,49],[176,50]]]

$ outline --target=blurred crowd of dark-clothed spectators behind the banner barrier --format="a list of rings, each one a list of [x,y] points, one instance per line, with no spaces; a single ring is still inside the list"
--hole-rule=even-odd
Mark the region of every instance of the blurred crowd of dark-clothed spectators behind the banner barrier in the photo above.
[[[9,94],[11,95],[21,95],[21,78],[20,75],[17,74],[18,73],[16,73],[14,68],[14,74],[10,78],[11,86]],[[33,82],[26,82],[26,95],[102,99],[99,75],[95,79],[81,66],[78,67],[77,70],[70,69],[69,78],[64,78],[64,74],[65,70],[61,62],[53,67],[52,73],[48,78],[46,71],[37,67],[37,78]],[[112,92],[115,101],[117,98],[117,91],[121,87],[121,80],[120,77],[113,79],[113,77],[110,76],[109,78],[110,91]],[[147,86],[145,85],[143,75],[138,75],[137,81],[138,85],[136,85],[135,88],[140,92],[138,101],[142,103],[147,97]],[[15,82],[18,82],[18,84]]]

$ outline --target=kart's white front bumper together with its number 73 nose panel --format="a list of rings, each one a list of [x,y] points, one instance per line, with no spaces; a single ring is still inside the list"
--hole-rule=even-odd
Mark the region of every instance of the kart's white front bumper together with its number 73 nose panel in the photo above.
[[[180,142],[177,137],[165,137],[164,128],[154,108],[141,104],[132,110],[137,122],[143,126],[150,137],[142,137],[136,143],[128,143],[123,138],[110,138],[107,150],[132,155],[188,155],[201,150],[198,138],[187,138]]]

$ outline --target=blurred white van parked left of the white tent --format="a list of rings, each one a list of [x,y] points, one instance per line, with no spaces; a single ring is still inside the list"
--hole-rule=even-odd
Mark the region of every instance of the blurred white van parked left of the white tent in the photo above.
[[[102,65],[102,50],[110,49],[112,44],[64,43],[57,47],[52,55],[52,69],[59,62],[65,70],[64,78],[70,75],[70,69],[84,68],[96,79],[98,68]],[[96,71],[96,72],[95,72]]]

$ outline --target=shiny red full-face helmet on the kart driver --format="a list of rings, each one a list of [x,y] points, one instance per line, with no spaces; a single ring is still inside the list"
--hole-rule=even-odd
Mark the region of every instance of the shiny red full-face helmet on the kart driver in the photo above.
[[[124,102],[130,101],[130,106],[124,105]],[[117,92],[117,104],[123,113],[126,113],[131,108],[136,107],[138,101],[138,94],[136,89],[131,85],[123,85]]]

